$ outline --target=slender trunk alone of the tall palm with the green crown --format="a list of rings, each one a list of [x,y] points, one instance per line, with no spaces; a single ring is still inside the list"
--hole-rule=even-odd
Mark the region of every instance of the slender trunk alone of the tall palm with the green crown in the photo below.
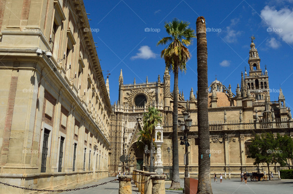
[[[174,67],[174,90],[173,90],[173,168],[172,183],[170,189],[179,189],[179,158],[178,158],[178,63]]]

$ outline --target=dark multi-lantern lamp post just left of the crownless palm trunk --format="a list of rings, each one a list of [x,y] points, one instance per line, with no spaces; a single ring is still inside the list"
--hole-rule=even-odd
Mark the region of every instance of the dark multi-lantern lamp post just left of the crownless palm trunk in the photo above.
[[[180,124],[180,130],[183,132],[183,137],[180,137],[180,145],[185,145],[185,172],[184,172],[184,188],[183,193],[185,193],[185,178],[188,178],[188,147],[190,144],[188,143],[188,132],[192,125],[192,119],[190,118],[190,115],[184,111],[183,113],[183,119],[184,122]]]

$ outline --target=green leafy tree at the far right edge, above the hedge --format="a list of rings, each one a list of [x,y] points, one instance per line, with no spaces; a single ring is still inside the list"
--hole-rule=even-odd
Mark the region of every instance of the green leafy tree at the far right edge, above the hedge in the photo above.
[[[280,136],[279,133],[277,133],[276,140],[280,149],[280,158],[277,162],[280,165],[285,165],[286,163],[288,169],[290,169],[290,159],[293,159],[293,140],[288,135]]]

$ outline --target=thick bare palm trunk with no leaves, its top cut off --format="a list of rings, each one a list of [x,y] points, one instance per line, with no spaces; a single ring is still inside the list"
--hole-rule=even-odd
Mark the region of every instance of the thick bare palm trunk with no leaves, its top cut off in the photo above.
[[[202,22],[204,21],[204,22]],[[198,194],[212,194],[210,169],[210,132],[208,127],[208,49],[203,16],[196,21],[197,36],[197,122],[198,122]]]

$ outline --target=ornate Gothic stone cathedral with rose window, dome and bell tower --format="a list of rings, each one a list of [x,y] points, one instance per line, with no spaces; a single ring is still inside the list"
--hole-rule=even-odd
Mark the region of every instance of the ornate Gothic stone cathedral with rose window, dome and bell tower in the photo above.
[[[217,79],[208,88],[208,119],[210,128],[211,171],[216,173],[231,172],[239,175],[240,171],[256,171],[254,160],[247,158],[248,145],[255,133],[271,131],[273,133],[293,135],[293,121],[290,109],[285,106],[285,97],[280,89],[278,101],[270,101],[268,71],[262,71],[260,58],[253,40],[249,50],[249,74],[241,72],[241,86],[232,92]],[[194,83],[196,85],[196,83]],[[193,120],[189,140],[189,171],[198,173],[198,126],[197,96],[191,88],[189,99],[179,92],[178,114],[180,124],[183,112],[188,111]],[[123,166],[119,161],[121,155],[130,154],[135,157],[135,168],[145,165],[143,151],[136,146],[138,132],[143,127],[142,115],[149,106],[155,106],[161,112],[163,123],[163,144],[161,147],[163,165],[172,165],[172,107],[173,94],[170,92],[170,74],[165,71],[163,81],[124,84],[122,70],[119,76],[119,98],[114,103],[110,119],[111,159],[110,173],[114,175]],[[179,130],[178,136],[182,136]],[[180,140],[178,140],[180,143]],[[179,145],[179,171],[183,175],[183,153],[185,146]],[[155,160],[156,161],[156,160]],[[292,161],[290,162],[292,164]],[[270,168],[273,172],[280,165]],[[265,165],[261,171],[267,172]]]

